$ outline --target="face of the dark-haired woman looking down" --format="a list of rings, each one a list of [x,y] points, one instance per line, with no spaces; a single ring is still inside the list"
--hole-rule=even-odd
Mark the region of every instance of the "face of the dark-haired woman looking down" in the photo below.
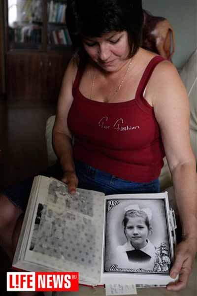
[[[114,31],[101,37],[83,37],[82,42],[90,58],[107,72],[119,70],[130,52],[126,31]]]

